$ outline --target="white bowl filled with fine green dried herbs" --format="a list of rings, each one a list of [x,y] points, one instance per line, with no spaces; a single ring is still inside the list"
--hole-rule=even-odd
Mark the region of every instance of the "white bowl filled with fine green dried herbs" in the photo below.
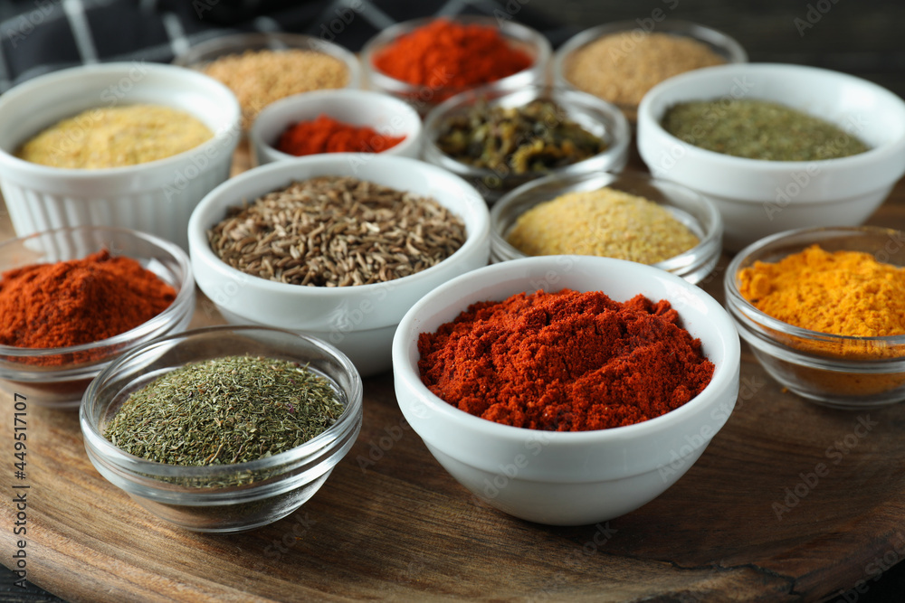
[[[663,81],[642,100],[655,176],[716,203],[729,250],[805,226],[855,226],[905,174],[905,101],[845,73],[754,63]]]

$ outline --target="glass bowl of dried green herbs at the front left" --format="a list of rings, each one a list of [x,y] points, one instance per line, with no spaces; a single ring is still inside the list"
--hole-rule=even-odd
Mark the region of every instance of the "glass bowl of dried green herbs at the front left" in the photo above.
[[[157,339],[91,382],[91,463],[157,517],[195,532],[275,522],[314,495],[355,443],[362,384],[304,334],[214,326]]]

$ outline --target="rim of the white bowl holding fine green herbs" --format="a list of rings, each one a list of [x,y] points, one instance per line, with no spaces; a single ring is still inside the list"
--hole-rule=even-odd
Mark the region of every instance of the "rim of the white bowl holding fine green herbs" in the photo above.
[[[836,79],[839,81],[848,81],[855,85],[862,86],[867,90],[872,90],[879,97],[885,97],[890,100],[893,106],[898,105],[902,114],[902,120],[905,121],[905,100],[900,99],[890,90],[883,88],[879,84],[875,84],[870,80],[864,80],[849,73],[842,71],[833,71],[822,67],[811,67],[809,65],[795,65],[791,63],[768,63],[768,62],[748,62],[748,63],[728,63],[725,65],[714,65],[711,67],[703,67],[701,69],[687,71],[673,76],[667,80],[663,80],[644,95],[641,103],[638,105],[638,127],[650,127],[658,137],[670,140],[675,145],[683,146],[685,153],[691,157],[697,158],[699,161],[707,160],[724,164],[723,167],[737,168],[744,170],[753,170],[755,172],[776,172],[795,168],[807,167],[814,165],[823,169],[848,167],[856,169],[864,164],[871,164],[876,161],[878,156],[894,155],[905,149],[905,137],[897,140],[888,141],[880,146],[872,146],[863,153],[848,155],[845,157],[836,157],[834,159],[817,159],[812,161],[773,161],[766,159],[751,159],[749,157],[738,157],[735,155],[727,155],[710,151],[709,149],[694,146],[690,143],[674,137],[667,132],[660,124],[660,118],[653,116],[651,105],[656,102],[658,96],[668,93],[674,87],[683,85],[693,85],[701,80],[725,79],[731,76],[744,76],[746,73],[771,73],[776,72],[777,75],[812,73],[827,79]],[[698,100],[697,97],[693,99]],[[707,99],[700,99],[707,100]],[[794,107],[793,107],[794,108]],[[800,110],[800,109],[796,109]],[[905,167],[903,167],[905,169]]]

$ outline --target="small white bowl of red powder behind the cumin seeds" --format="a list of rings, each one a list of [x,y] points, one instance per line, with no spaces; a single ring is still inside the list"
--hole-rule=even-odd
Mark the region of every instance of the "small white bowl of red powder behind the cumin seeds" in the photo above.
[[[315,90],[277,100],[248,137],[256,165],[323,153],[418,158],[421,118],[410,105],[373,90]]]

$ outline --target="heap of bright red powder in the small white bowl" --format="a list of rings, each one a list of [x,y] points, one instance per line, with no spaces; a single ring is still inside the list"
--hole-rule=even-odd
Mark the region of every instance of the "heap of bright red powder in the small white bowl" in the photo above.
[[[380,153],[405,140],[380,134],[373,127],[353,126],[319,115],[287,127],[277,140],[276,149],[289,155],[319,153]]]

